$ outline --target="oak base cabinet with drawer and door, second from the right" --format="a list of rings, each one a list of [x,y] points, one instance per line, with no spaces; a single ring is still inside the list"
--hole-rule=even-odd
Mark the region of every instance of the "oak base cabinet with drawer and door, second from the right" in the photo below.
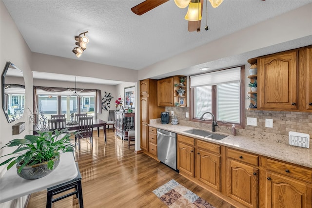
[[[249,208],[258,207],[258,156],[227,148],[227,195]]]

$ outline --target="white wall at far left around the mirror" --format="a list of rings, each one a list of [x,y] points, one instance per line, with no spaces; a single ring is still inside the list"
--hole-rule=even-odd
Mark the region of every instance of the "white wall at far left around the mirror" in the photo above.
[[[6,62],[11,61],[20,70],[23,71],[25,79],[26,100],[25,109],[27,107],[32,108],[32,86],[33,86],[33,74],[31,71],[31,51],[28,48],[26,42],[21,36],[18,28],[16,27],[13,19],[9,15],[5,5],[0,1],[0,71],[1,74],[5,68]],[[2,86],[2,83],[1,83]],[[1,97],[1,96],[0,96]],[[2,100],[0,98],[0,103]],[[23,138],[25,134],[29,133],[32,124],[28,119],[29,112],[25,111],[24,116],[18,121],[8,123],[4,112],[1,109],[0,112],[0,147],[6,144],[8,141],[14,138]],[[12,135],[12,126],[18,122],[25,122],[25,131],[20,135]],[[0,155],[4,155],[12,152],[16,148],[4,148],[0,151]],[[3,161],[5,158],[1,158]],[[15,168],[15,167],[13,167]],[[2,177],[6,169],[4,166],[0,167],[0,176]],[[0,196],[1,197],[1,196]],[[6,203],[0,204],[1,208],[22,208],[25,203],[26,197],[21,197]]]

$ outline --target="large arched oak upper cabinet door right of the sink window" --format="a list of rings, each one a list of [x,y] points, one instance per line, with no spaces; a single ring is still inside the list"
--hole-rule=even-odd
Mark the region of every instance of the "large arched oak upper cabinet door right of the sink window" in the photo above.
[[[259,109],[298,109],[297,51],[259,58]]]

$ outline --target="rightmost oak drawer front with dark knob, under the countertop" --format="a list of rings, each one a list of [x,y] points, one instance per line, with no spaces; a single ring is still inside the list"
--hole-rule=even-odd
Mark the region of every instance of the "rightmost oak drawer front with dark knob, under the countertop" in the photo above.
[[[312,170],[307,170],[267,158],[262,158],[261,162],[266,170],[271,170],[285,176],[290,176],[293,179],[312,182]]]

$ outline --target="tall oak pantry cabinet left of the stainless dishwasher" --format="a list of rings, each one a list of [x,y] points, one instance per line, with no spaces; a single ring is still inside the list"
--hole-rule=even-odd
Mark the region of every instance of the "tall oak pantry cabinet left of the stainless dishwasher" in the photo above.
[[[153,153],[149,152],[153,145],[151,146],[149,141],[148,124],[150,119],[160,118],[160,113],[165,111],[164,107],[157,106],[157,80],[144,79],[140,81],[140,102],[140,147],[145,154],[155,158],[155,155],[157,156],[155,149]]]

